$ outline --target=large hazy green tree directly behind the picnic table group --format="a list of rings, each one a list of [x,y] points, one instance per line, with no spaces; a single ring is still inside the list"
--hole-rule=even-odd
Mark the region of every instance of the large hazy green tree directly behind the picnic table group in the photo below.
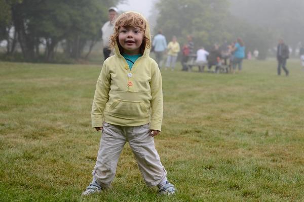
[[[158,28],[167,37],[193,34],[196,44],[211,45],[230,37],[223,19],[229,15],[226,0],[165,0],[157,4]]]

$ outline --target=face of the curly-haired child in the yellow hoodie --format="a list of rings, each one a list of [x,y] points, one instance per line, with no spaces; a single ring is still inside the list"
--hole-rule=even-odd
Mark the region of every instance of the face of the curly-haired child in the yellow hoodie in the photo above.
[[[143,31],[139,27],[121,27],[119,29],[118,41],[124,48],[125,54],[139,54],[142,39]]]

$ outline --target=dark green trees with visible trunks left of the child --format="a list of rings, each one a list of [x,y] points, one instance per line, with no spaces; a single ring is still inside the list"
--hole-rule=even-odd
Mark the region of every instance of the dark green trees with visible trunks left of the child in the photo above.
[[[0,41],[8,42],[8,56],[15,53],[18,42],[25,61],[54,61],[59,43],[65,56],[87,58],[101,38],[107,9],[119,2],[122,1],[0,0]],[[85,46],[89,46],[87,53]]]

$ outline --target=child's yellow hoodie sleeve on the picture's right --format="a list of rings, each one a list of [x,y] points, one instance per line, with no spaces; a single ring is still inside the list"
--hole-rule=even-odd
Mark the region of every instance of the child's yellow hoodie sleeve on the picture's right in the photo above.
[[[152,71],[150,89],[152,96],[150,129],[161,131],[163,121],[163,89],[162,75],[157,64],[155,64],[155,68]]]

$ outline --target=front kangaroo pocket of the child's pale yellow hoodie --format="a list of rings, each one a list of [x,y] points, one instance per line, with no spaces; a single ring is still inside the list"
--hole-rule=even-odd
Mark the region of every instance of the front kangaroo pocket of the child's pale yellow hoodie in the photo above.
[[[143,102],[115,99],[109,107],[109,115],[125,119],[148,117],[148,110]]]

